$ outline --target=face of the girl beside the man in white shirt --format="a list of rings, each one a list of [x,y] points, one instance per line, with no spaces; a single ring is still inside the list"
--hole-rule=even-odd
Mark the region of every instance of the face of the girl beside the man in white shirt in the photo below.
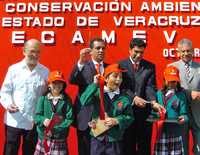
[[[53,81],[50,84],[51,93],[53,95],[59,95],[61,91],[63,90],[63,87],[64,87],[64,83],[62,81]]]

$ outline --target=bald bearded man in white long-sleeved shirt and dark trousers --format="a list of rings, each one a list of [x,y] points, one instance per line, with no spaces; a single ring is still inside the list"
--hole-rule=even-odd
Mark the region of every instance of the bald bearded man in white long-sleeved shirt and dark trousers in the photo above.
[[[1,87],[1,104],[5,108],[4,155],[17,155],[21,137],[22,154],[32,155],[37,142],[33,116],[39,96],[46,90],[48,69],[41,65],[40,42],[30,39],[24,44],[24,59],[8,68]]]

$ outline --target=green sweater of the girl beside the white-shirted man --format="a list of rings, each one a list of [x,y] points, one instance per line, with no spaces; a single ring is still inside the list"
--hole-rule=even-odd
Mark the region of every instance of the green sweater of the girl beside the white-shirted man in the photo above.
[[[37,125],[37,132],[40,140],[43,140],[44,138],[44,120],[46,118],[51,119],[53,115],[51,102],[52,101],[49,100],[47,96],[41,96],[36,106],[34,120]],[[66,139],[69,132],[69,126],[73,121],[71,99],[68,96],[65,96],[62,100],[59,100],[57,104],[56,113],[64,119],[51,130],[52,139]]]

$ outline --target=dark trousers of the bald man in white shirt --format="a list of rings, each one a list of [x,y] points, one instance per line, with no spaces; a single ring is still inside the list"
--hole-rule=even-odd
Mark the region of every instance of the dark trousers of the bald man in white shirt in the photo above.
[[[32,130],[18,129],[5,126],[4,155],[18,155],[20,140],[23,138],[22,154],[33,155],[37,143],[37,132],[34,127]]]

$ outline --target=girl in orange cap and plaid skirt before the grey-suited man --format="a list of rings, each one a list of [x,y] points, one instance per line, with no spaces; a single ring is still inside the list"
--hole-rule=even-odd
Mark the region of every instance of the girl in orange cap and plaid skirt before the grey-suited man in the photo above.
[[[186,96],[180,87],[179,71],[176,67],[165,68],[164,86],[157,92],[157,101],[165,107],[164,117],[169,121],[163,124],[161,135],[156,141],[154,155],[183,155],[182,128],[183,123],[188,122],[188,110]]]

